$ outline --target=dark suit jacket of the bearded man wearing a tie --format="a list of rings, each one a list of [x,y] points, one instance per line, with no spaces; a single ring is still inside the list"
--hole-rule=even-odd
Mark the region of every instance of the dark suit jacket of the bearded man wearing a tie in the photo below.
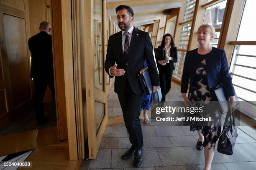
[[[122,48],[122,31],[111,35],[108,40],[107,56],[105,60],[105,70],[109,74],[110,67],[117,63],[117,69],[124,69],[125,75],[115,77],[115,92],[122,94],[125,92],[126,79],[128,79],[134,93],[144,93],[138,80],[138,73],[144,68],[144,60],[148,64],[153,86],[159,85],[159,77],[154,61],[153,45],[148,32],[133,28],[128,57],[125,59]],[[114,77],[111,76],[110,77]]]

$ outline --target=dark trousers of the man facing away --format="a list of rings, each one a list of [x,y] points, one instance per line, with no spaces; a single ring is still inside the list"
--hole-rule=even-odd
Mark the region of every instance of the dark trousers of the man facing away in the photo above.
[[[51,89],[52,100],[55,101],[54,92],[54,75],[49,75],[40,78],[34,78],[34,110],[36,112],[36,119],[41,121],[44,118],[44,94],[47,86]]]

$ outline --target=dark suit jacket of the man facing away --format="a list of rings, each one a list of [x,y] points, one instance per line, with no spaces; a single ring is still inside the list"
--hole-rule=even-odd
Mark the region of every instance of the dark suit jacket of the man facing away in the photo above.
[[[31,78],[53,75],[51,35],[44,31],[28,39],[31,52]]]

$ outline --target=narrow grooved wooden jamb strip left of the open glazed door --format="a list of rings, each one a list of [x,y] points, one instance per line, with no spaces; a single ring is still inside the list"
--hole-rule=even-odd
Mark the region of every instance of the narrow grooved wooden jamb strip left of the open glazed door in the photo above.
[[[84,9],[84,1],[72,0],[72,16],[73,16],[73,56],[74,56],[74,91],[75,91],[75,103],[76,103],[76,118],[77,118],[77,155],[78,160],[85,158],[85,140],[87,139],[86,121],[84,120],[84,108],[86,108],[86,101],[84,101],[83,81],[82,77],[85,76],[82,72],[82,62],[84,51],[80,50],[80,46],[83,47],[83,35],[84,27],[81,24],[83,21],[83,15],[80,15]]]

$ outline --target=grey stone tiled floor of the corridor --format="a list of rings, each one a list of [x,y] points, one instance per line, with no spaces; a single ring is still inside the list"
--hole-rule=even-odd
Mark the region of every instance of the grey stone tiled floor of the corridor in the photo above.
[[[172,84],[167,100],[181,100],[179,86]],[[140,168],[133,168],[133,158],[122,160],[120,156],[131,147],[123,124],[106,127],[96,160],[90,169],[98,170],[203,170],[204,151],[195,148],[198,135],[189,126],[169,126],[149,123],[142,126],[143,156]],[[233,155],[217,152],[212,170],[256,170],[256,138],[238,130]]]

